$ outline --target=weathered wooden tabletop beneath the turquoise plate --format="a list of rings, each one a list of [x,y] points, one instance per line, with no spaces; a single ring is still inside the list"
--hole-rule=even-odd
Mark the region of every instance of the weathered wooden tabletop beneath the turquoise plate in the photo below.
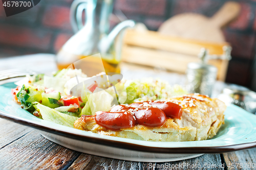
[[[8,62],[1,59],[0,67],[11,68]],[[49,65],[48,71],[55,69]],[[256,169],[256,148],[175,162],[124,161],[67,149],[33,128],[0,118],[0,169]]]

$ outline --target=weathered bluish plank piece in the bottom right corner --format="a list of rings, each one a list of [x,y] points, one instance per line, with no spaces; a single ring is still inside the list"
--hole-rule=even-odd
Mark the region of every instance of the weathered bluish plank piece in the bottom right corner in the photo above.
[[[223,156],[227,169],[256,169],[256,148],[224,153]]]

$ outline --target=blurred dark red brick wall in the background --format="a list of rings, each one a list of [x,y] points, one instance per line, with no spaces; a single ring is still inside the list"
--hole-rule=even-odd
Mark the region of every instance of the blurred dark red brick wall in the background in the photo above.
[[[0,3],[0,57],[53,53],[73,35],[69,8],[73,0],[42,0],[34,8],[6,17]],[[255,56],[256,0],[237,1],[239,17],[223,33],[233,50],[226,82],[250,87]],[[114,13],[121,10],[128,19],[143,22],[156,31],[169,17],[184,12],[212,16],[222,0],[117,0]],[[111,22],[113,28],[116,23]]]

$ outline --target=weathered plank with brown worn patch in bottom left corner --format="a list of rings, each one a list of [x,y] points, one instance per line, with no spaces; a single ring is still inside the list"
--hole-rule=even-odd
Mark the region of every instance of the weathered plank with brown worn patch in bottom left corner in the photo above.
[[[32,130],[0,150],[0,169],[66,169],[79,155]]]

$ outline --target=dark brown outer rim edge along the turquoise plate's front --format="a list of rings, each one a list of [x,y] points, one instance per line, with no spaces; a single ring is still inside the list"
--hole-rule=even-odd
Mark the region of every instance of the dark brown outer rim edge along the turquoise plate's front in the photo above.
[[[239,151],[239,150],[256,147],[256,141],[240,143],[240,144],[230,144],[230,145],[224,145],[224,146],[213,146],[213,147],[181,147],[181,148],[151,147],[148,145],[141,145],[141,144],[136,144],[131,142],[111,140],[106,138],[99,138],[97,136],[95,137],[95,136],[88,136],[88,135],[79,135],[75,133],[66,132],[64,130],[53,129],[53,128],[47,127],[46,125],[38,125],[28,119],[11,115],[1,110],[0,110],[0,117],[11,120],[14,123],[22,124],[25,126],[29,126],[29,127],[41,130],[41,131],[46,131],[52,134],[61,135],[61,136],[76,139],[76,140],[97,143],[97,144],[106,145],[109,147],[141,151],[141,152],[165,153],[165,154],[178,154],[178,153],[179,154],[191,154],[191,153],[193,154],[212,153],[213,154],[213,153],[233,152],[233,151]]]

